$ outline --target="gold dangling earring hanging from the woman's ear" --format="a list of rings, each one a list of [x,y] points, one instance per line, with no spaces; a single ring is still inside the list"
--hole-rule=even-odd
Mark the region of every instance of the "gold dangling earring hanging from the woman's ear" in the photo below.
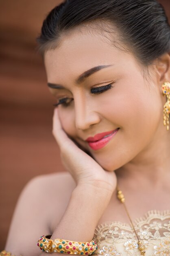
[[[170,83],[165,82],[162,85],[163,96],[166,95],[167,101],[163,106],[163,124],[169,130],[169,115],[170,115]]]

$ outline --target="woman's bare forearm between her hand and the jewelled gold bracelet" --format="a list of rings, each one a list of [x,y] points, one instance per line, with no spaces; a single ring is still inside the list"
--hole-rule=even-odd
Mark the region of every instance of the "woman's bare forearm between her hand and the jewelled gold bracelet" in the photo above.
[[[78,185],[72,191],[68,207],[51,239],[90,241],[111,198],[110,191],[91,184]]]

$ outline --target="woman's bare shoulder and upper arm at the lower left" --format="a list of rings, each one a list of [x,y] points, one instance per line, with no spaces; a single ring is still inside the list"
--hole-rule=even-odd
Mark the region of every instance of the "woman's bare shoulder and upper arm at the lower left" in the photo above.
[[[50,173],[31,179],[17,200],[5,249],[14,255],[39,255],[37,240],[43,234],[51,234],[75,187],[70,173]]]

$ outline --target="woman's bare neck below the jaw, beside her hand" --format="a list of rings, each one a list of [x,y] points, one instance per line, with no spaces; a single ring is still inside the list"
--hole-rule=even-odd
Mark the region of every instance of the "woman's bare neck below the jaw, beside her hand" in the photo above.
[[[115,170],[122,187],[170,191],[170,131],[163,128],[135,158]]]

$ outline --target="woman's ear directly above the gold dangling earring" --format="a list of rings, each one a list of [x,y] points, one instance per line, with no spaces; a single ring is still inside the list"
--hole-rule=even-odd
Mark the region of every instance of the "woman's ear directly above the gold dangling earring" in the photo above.
[[[162,84],[170,81],[170,54],[165,53],[156,59],[157,82]]]

